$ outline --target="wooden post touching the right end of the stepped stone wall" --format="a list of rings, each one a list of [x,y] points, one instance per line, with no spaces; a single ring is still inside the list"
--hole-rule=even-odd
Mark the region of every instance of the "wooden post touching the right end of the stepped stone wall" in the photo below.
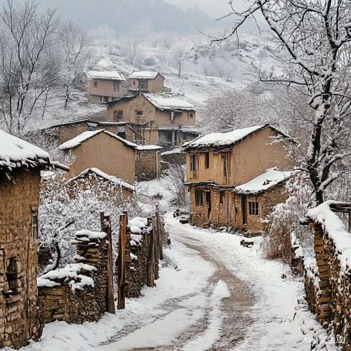
[[[106,312],[115,314],[114,291],[113,291],[113,267],[112,267],[112,232],[111,216],[105,216],[100,212],[101,230],[107,234],[107,289],[106,289]]]

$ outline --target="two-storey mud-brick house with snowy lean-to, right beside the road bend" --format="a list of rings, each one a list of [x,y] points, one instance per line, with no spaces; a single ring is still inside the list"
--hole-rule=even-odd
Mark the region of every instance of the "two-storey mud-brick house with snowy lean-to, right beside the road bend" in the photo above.
[[[264,230],[261,219],[285,201],[283,186],[293,164],[276,128],[253,126],[211,133],[183,145],[194,225]]]

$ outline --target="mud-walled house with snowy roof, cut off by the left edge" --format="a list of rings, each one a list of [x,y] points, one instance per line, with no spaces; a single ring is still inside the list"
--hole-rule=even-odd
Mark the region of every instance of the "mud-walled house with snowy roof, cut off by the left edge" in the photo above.
[[[40,171],[49,154],[0,131],[0,347],[41,336],[37,291]]]

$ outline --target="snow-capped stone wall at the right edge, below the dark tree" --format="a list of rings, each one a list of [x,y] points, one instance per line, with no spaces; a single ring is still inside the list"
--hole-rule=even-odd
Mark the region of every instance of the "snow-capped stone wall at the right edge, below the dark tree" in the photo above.
[[[340,219],[333,213],[332,216],[335,216],[333,227],[338,227]],[[351,234],[337,231],[339,243],[336,244],[336,237],[326,229],[328,225],[315,223],[310,218],[310,227],[314,229],[315,258],[305,263],[307,302],[317,314],[317,320],[326,329],[333,328],[336,343],[350,351],[351,267],[345,256],[350,256],[347,251],[351,249]]]

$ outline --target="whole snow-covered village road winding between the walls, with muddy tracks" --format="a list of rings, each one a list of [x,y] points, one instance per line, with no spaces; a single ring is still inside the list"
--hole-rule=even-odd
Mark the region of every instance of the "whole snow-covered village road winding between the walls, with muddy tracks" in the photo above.
[[[303,283],[260,258],[257,245],[247,249],[237,235],[182,225],[171,214],[166,227],[172,245],[154,289],[98,323],[47,324],[44,341],[23,350],[307,351],[326,335],[307,310]]]

